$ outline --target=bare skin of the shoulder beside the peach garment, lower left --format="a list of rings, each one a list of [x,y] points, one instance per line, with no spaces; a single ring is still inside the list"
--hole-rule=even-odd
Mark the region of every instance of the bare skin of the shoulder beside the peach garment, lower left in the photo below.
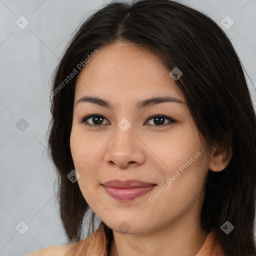
[[[63,256],[70,249],[70,244],[64,245],[51,245],[39,250],[35,250],[26,254],[25,256]]]

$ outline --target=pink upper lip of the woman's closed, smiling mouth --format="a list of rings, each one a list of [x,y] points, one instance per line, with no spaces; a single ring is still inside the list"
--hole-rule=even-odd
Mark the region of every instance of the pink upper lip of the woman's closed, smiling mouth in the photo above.
[[[102,183],[104,186],[116,187],[116,188],[130,188],[130,187],[145,187],[156,185],[153,183],[144,182],[136,179],[119,180],[112,179]]]

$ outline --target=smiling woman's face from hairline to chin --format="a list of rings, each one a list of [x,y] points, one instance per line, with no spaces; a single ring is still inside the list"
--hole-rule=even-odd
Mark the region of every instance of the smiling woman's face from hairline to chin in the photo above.
[[[155,54],[116,42],[99,48],[76,80],[70,149],[77,182],[90,208],[118,232],[156,231],[200,212],[209,157],[169,72]],[[76,104],[83,96],[111,107]],[[180,102],[137,104],[166,96]],[[120,189],[102,185],[112,179],[154,185],[122,189],[123,196]]]

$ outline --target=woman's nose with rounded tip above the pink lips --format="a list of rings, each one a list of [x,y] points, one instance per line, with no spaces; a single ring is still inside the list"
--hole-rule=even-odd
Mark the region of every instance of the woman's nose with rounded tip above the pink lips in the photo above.
[[[116,134],[107,144],[104,160],[107,164],[118,168],[137,166],[145,162],[145,144],[134,133],[133,127],[123,131],[118,126]]]

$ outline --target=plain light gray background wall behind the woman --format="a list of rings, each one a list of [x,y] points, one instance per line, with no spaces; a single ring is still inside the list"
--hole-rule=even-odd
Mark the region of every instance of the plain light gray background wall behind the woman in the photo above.
[[[180,2],[203,11],[222,27],[255,84],[256,1]],[[45,149],[50,120],[46,95],[71,33],[102,4],[102,0],[0,0],[0,255],[21,256],[66,243],[57,213],[56,175]],[[29,21],[24,29],[15,23],[21,15]],[[220,23],[226,15],[234,20],[229,29]],[[21,118],[28,123],[23,131],[16,126]],[[15,228],[20,221],[29,226],[24,234]]]

